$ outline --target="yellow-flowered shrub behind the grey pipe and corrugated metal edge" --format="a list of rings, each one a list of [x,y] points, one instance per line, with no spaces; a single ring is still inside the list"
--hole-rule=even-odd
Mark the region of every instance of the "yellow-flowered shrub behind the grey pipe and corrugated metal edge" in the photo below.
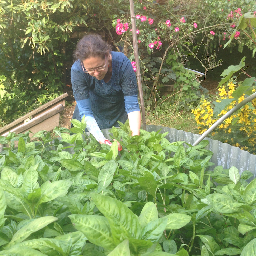
[[[218,89],[215,101],[221,102],[223,99],[233,99],[232,93],[237,85],[233,81],[229,81]],[[252,89],[252,93],[255,88]],[[199,106],[192,110],[195,120],[198,124],[199,134],[204,133],[212,126],[219,118],[226,114],[236,104],[244,100],[245,95],[239,97],[238,100],[232,101],[225,109],[217,116],[213,115],[212,102],[202,99]],[[220,124],[212,133],[213,139],[229,143],[232,146],[240,147],[242,150],[247,150],[255,154],[256,142],[256,99],[246,104],[228,117]]]

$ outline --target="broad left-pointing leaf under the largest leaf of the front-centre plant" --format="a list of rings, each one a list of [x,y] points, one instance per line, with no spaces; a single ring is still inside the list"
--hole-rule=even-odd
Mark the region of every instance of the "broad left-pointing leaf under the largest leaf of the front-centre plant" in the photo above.
[[[106,217],[99,215],[69,215],[74,227],[93,244],[113,250],[116,246]]]

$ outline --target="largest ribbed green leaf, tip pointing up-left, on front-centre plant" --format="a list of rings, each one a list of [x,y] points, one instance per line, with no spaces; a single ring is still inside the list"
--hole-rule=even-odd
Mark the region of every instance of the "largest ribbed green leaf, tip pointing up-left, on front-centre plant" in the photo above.
[[[91,198],[108,219],[113,237],[117,240],[140,237],[138,217],[122,202],[96,193],[91,193]]]

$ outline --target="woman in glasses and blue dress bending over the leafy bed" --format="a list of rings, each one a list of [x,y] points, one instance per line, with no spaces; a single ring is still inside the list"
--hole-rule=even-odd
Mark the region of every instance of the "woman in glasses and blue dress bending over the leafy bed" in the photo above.
[[[85,35],[74,51],[71,82],[76,100],[73,118],[85,116],[86,128],[99,143],[105,143],[101,129],[118,127],[129,119],[133,135],[140,134],[141,116],[136,76],[130,60],[99,35]],[[107,143],[107,142],[106,142]]]

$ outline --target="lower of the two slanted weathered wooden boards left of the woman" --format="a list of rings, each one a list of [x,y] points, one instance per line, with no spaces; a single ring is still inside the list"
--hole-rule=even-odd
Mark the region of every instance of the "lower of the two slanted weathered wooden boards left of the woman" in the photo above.
[[[47,120],[48,118],[52,117],[53,115],[56,115],[57,113],[59,113],[63,109],[64,109],[64,106],[62,104],[59,104],[59,105],[55,106],[54,108],[49,109],[48,111],[42,113],[41,115],[38,115],[37,117],[29,120],[26,123],[23,123],[23,124],[15,127],[15,128],[13,128],[13,129],[10,129],[10,130],[6,131],[3,134],[0,133],[0,135],[1,136],[7,136],[9,131],[10,132],[16,132],[16,133],[24,133],[25,131],[31,130],[33,128],[33,126],[40,124],[41,122],[43,122],[44,120]],[[50,126],[52,127],[51,123],[49,121],[47,121],[47,122],[49,123],[49,127]],[[58,119],[58,122],[59,122],[59,119]],[[45,130],[47,130],[47,129],[45,129]],[[43,128],[41,128],[40,130],[43,130]],[[40,130],[38,130],[38,131],[40,131]]]

